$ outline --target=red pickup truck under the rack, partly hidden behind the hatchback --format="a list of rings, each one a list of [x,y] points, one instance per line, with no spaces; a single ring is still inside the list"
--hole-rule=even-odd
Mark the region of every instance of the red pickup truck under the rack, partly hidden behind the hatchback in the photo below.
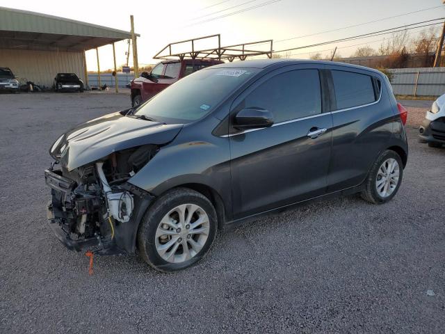
[[[161,61],[152,70],[152,72],[142,72],[140,77],[131,81],[131,106],[151,99],[161,90],[167,88],[188,74],[201,70],[204,67],[221,64],[218,60],[192,60],[184,59]]]

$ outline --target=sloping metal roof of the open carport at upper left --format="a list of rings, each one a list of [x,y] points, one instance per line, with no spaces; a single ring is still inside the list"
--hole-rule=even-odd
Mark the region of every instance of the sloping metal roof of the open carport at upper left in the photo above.
[[[0,7],[1,49],[85,51],[127,38],[128,31]]]

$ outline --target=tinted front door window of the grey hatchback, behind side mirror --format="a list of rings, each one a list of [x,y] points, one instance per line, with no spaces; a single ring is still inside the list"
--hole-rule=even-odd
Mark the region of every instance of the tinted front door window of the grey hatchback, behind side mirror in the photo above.
[[[274,122],[321,113],[318,70],[294,70],[277,74],[245,98],[245,107],[267,109]]]

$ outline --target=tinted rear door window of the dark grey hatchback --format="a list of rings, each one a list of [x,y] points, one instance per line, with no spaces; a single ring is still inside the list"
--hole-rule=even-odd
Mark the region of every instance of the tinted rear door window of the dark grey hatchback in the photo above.
[[[332,70],[337,110],[375,102],[373,78],[366,74]]]

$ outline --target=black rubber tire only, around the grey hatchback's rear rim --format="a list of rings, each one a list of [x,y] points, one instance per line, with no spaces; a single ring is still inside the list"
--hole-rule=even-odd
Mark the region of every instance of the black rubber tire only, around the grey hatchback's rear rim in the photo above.
[[[382,197],[378,193],[377,186],[376,186],[376,180],[378,177],[378,170],[380,166],[382,166],[383,162],[387,159],[395,159],[399,166],[399,177],[398,177],[398,184],[394,191],[387,197]],[[396,196],[396,193],[398,191],[398,188],[401,186],[403,179],[403,163],[401,157],[392,150],[386,150],[380,156],[377,160],[375,160],[373,166],[371,167],[371,170],[369,171],[368,177],[366,177],[365,184],[364,184],[364,190],[361,193],[361,196],[364,200],[371,202],[373,204],[383,204],[386,202],[389,202],[394,196]]]

